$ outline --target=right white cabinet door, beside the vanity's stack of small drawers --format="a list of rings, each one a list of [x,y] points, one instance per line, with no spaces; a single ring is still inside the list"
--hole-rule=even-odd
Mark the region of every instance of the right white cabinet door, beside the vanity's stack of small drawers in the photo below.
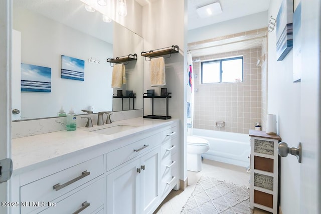
[[[140,158],[140,213],[150,213],[161,199],[161,146]]]

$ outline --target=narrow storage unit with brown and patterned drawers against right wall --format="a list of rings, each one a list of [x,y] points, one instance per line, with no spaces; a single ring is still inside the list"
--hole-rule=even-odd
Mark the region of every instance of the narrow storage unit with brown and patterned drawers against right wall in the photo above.
[[[249,130],[251,137],[250,207],[277,214],[278,209],[278,135]]]

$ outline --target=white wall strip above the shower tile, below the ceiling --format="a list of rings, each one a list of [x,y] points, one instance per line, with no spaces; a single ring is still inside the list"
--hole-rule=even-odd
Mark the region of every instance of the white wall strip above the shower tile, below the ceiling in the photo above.
[[[188,43],[266,28],[267,11],[188,31]],[[233,26],[233,27],[231,27]]]

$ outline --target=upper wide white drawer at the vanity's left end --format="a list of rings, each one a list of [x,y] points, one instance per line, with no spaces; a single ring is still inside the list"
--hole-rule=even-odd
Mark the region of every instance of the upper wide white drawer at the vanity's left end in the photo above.
[[[99,156],[20,187],[21,201],[52,201],[104,172],[104,158]],[[58,185],[57,185],[58,184]],[[37,207],[25,206],[31,211]]]

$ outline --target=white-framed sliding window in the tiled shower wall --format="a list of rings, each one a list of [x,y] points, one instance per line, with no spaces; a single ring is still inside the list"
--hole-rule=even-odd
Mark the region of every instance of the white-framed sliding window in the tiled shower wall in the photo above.
[[[229,83],[243,81],[243,57],[234,57],[201,63],[202,83]]]

